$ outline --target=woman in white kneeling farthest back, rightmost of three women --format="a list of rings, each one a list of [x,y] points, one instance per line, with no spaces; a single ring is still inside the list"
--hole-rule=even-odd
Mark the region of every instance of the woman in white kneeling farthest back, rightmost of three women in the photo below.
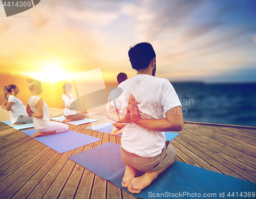
[[[65,120],[62,122],[71,122],[75,120],[82,120],[86,118],[85,114],[76,113],[75,111],[75,98],[70,94],[72,90],[72,85],[70,83],[65,83],[63,85],[63,95],[62,95],[62,106],[64,108]]]

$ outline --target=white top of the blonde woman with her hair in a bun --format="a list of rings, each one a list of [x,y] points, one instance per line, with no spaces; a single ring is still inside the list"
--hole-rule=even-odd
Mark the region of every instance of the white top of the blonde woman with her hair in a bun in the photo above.
[[[36,103],[38,102],[39,99],[42,99],[39,96],[31,96],[29,98],[29,105],[30,108],[32,110],[32,112],[34,112],[35,114],[38,114],[38,109],[37,109],[37,105]],[[50,116],[49,116],[49,112],[48,112],[48,105],[46,104],[46,102],[42,99],[42,110],[44,112],[44,117],[43,118],[36,118],[33,117],[33,123],[34,123],[34,127],[35,129],[39,130],[42,128],[47,127],[50,124]]]

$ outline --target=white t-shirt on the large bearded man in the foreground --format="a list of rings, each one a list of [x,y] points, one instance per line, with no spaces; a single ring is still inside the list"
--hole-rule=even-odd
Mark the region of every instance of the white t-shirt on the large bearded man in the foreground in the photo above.
[[[140,74],[123,81],[118,87],[123,93],[115,99],[115,104],[123,113],[131,94],[138,102],[140,116],[144,119],[165,118],[169,109],[181,106],[174,87],[167,79]],[[115,106],[113,101],[111,104]],[[165,140],[164,132],[143,128],[131,122],[123,129],[121,144],[128,152],[152,158],[161,153]]]

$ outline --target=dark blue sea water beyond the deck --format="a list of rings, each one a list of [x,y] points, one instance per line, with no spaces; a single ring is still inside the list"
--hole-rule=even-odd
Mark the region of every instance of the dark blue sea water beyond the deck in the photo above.
[[[171,83],[184,121],[256,126],[256,83]]]

